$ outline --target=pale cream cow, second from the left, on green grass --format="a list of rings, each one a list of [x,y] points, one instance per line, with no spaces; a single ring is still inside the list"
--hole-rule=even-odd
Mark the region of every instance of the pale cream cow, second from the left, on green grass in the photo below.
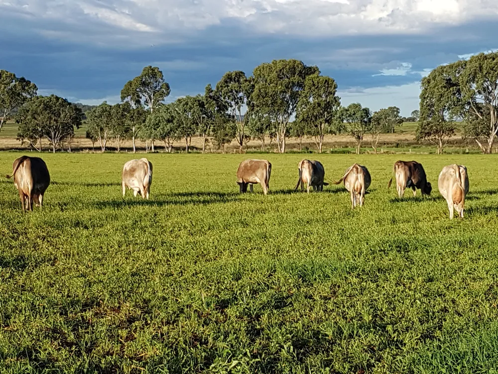
[[[147,159],[130,160],[124,164],[122,187],[123,197],[126,187],[133,190],[133,196],[138,193],[142,198],[149,198],[150,185],[152,184],[152,164]]]

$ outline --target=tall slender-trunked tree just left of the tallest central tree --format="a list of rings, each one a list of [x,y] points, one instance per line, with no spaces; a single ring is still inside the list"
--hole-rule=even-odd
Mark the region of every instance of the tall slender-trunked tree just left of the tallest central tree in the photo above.
[[[248,114],[242,114],[244,107],[250,107],[250,96],[254,89],[252,79],[243,71],[229,71],[216,85],[216,94],[225,101],[229,113],[237,125],[237,142],[240,152],[244,149],[245,128]]]

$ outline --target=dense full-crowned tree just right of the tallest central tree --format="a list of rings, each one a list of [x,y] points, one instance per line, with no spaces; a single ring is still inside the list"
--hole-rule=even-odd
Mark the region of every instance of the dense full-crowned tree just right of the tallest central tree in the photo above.
[[[303,123],[307,134],[314,137],[320,153],[325,134],[337,134],[341,130],[342,121],[337,121],[341,102],[336,92],[334,79],[313,74],[306,77],[298,101],[296,121]]]

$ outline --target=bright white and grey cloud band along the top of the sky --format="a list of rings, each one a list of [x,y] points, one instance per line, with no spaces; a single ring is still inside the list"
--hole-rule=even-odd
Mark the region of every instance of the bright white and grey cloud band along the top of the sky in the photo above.
[[[323,37],[415,33],[437,24],[498,18],[494,0],[0,0],[0,19],[2,12],[13,14],[13,9],[15,14],[68,27],[100,22],[134,35],[135,42],[146,38],[156,43],[169,42],[170,37],[176,41],[179,35],[224,21],[255,33]],[[46,26],[50,29],[50,23]]]

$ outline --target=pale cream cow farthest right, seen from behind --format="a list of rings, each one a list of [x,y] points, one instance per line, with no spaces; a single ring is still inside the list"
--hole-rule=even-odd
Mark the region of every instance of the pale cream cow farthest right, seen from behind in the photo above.
[[[450,219],[453,219],[453,209],[463,218],[465,196],[469,192],[467,168],[456,164],[445,166],[439,174],[438,187],[448,203]]]

